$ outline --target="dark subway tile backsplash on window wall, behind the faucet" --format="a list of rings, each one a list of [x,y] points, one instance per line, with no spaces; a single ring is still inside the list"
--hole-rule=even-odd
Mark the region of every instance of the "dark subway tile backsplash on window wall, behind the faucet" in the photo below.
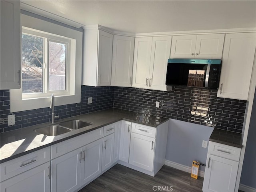
[[[92,97],[93,103],[87,104],[87,98]],[[91,87],[82,86],[81,102],[76,104],[62,105],[55,107],[55,114],[64,119],[108,108],[113,108],[114,87]],[[50,106],[50,103],[49,103]],[[22,112],[10,113],[10,91],[0,90],[0,118],[7,118],[8,115],[15,114],[15,125],[7,126],[7,122],[0,124],[0,131],[6,132],[14,129],[24,128],[36,124],[50,122],[52,120],[52,110],[41,108]]]

